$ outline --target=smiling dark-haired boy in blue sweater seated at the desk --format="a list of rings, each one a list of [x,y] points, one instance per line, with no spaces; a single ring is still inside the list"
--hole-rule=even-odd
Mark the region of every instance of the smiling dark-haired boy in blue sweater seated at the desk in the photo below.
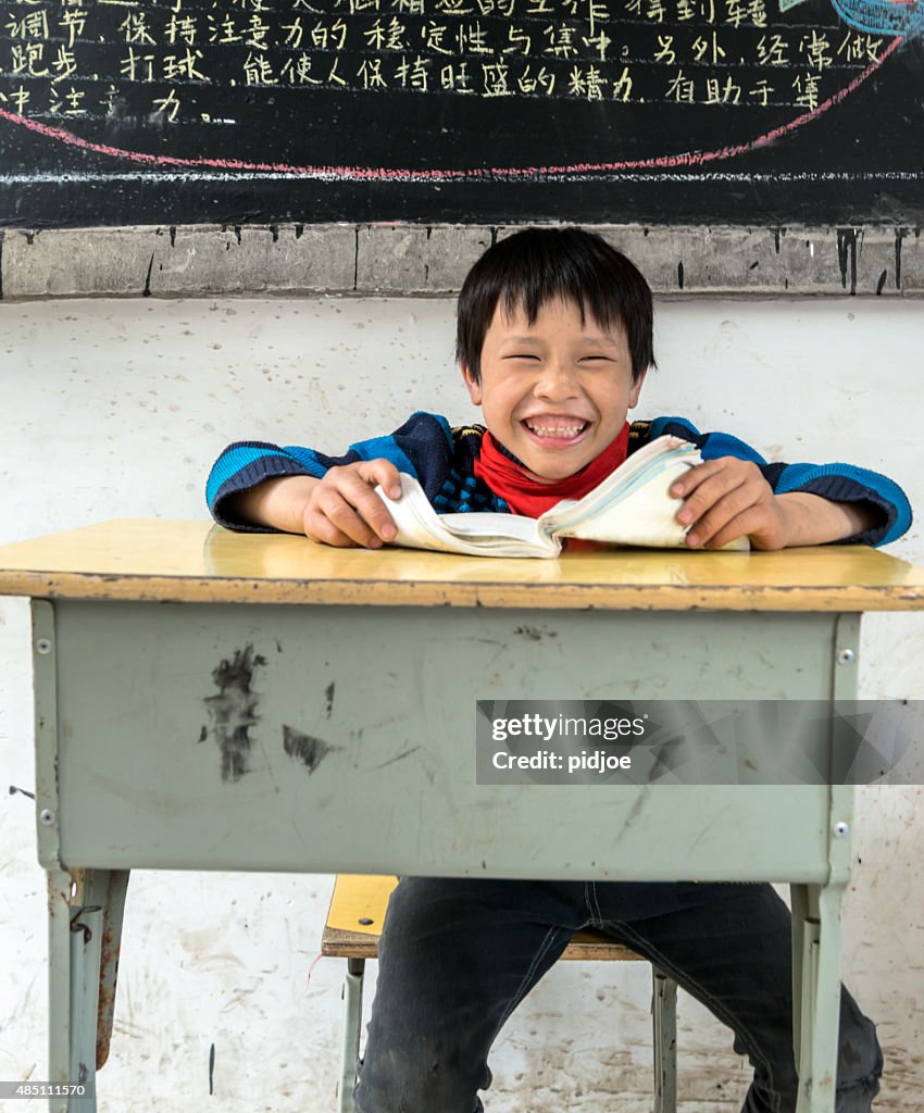
[[[630,425],[655,364],[651,293],[598,236],[530,229],[490,248],[460,294],[456,352],[486,427],[452,430],[417,413],[341,457],[232,445],[208,481],[216,519],[377,548],[394,525],[373,487],[399,494],[399,471],[416,475],[440,512],[537,516],[667,432],[704,456],[671,489],[691,548],[743,535],[758,549],[881,544],[910,524],[903,493],[876,473],[767,464],[682,418]],[[357,1110],[480,1111],[498,1032],[588,925],[657,963],[734,1030],[755,1067],[744,1113],[795,1109],[789,914],[770,886],[403,878],[382,936]],[[873,1024],[844,991],[838,1113],[866,1113],[881,1071]]]

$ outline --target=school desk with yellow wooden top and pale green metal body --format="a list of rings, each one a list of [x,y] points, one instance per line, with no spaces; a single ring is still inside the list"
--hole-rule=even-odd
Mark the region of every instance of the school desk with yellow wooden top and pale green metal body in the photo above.
[[[861,612],[924,609],[924,570],[155,520],[2,548],[0,592],[32,599],[50,1078],[105,1061],[132,867],[770,880],[793,894],[798,1110],[833,1110],[853,790],[476,785],[475,700],[852,698]]]

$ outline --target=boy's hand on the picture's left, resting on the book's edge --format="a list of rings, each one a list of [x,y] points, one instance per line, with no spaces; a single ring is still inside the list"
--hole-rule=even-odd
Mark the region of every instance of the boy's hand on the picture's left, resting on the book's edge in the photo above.
[[[397,530],[373,487],[401,498],[399,471],[387,460],[363,460],[332,467],[312,487],[303,515],[305,536],[327,545],[380,549]]]

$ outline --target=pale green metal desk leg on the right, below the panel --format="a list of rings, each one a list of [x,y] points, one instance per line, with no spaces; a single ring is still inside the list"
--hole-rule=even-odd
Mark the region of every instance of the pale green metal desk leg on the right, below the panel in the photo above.
[[[841,1027],[842,914],[846,885],[793,885],[793,1046],[796,1113],[833,1113]]]

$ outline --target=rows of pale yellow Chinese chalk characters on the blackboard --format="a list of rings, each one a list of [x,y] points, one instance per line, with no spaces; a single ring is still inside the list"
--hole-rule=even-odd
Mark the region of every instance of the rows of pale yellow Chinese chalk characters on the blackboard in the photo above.
[[[4,0],[0,108],[219,125],[215,90],[814,110],[891,39],[770,0]]]

